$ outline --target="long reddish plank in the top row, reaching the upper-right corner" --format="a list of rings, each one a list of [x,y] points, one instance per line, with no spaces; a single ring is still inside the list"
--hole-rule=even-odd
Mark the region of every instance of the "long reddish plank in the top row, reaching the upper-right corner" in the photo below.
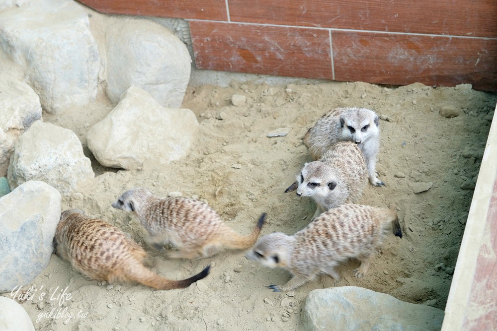
[[[232,21],[497,37],[497,0],[228,0]]]

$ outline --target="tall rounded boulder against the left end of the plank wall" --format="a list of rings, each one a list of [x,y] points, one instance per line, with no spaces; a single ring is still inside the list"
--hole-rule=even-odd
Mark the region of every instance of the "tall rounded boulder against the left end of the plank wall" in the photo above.
[[[106,29],[107,96],[116,104],[129,87],[178,108],[190,80],[186,46],[164,26],[144,19],[115,20]]]

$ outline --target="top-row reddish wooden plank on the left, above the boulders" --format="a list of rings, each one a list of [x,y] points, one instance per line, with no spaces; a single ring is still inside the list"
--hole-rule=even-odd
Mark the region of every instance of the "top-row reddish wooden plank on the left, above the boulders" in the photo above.
[[[78,0],[107,14],[228,20],[225,0]]]

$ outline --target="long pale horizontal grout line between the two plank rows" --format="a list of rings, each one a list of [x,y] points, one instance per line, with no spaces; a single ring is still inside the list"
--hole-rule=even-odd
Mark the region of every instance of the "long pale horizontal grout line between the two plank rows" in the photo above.
[[[228,1],[228,0],[226,0],[226,1]],[[216,20],[211,20],[211,19],[188,18],[187,20],[188,21],[197,21],[197,22],[210,22],[210,23],[228,23],[227,21],[216,21]],[[235,22],[235,21],[229,21],[229,23],[241,24],[241,25],[255,25],[255,26],[271,26],[271,27],[284,27],[284,28],[311,29],[311,30],[328,30],[330,32],[331,31],[365,32],[365,33],[393,34],[393,35],[404,35],[404,36],[424,36],[424,37],[445,37],[445,38],[461,38],[461,39],[497,40],[497,37],[458,36],[458,35],[448,35],[448,34],[432,34],[432,33],[416,33],[416,32],[395,32],[395,31],[376,31],[376,30],[354,30],[354,29],[323,28],[323,27],[301,26],[301,25],[248,23],[248,22]]]

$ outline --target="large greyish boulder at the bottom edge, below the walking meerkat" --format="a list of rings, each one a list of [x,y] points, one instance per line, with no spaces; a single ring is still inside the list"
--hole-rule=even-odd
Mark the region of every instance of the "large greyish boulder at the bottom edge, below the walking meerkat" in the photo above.
[[[302,321],[304,330],[440,330],[443,310],[343,286],[311,291]]]

